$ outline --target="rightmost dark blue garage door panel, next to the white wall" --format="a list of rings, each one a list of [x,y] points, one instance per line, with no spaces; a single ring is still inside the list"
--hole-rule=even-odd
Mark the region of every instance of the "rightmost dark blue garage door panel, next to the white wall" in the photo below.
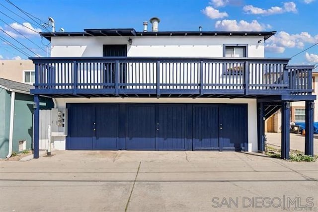
[[[246,118],[246,105],[220,107],[220,148],[236,151],[244,149]]]

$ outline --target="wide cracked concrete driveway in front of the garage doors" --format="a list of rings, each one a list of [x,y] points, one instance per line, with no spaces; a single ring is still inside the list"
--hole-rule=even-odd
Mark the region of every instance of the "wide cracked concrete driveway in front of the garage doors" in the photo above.
[[[0,161],[1,212],[318,210],[318,162],[241,152],[52,153]]]

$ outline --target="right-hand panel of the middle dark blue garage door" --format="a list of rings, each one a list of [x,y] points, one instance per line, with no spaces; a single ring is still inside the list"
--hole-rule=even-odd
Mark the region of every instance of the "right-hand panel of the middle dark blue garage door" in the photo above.
[[[185,149],[185,105],[158,105],[156,149]]]

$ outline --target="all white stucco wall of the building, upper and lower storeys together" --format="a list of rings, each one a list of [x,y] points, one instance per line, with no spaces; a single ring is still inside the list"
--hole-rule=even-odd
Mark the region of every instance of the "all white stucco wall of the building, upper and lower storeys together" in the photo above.
[[[103,45],[126,44],[128,57],[223,57],[224,44],[247,44],[248,57],[264,57],[262,36],[143,36],[131,37],[52,37],[51,57],[101,57]],[[57,106],[66,103],[245,103],[248,104],[248,151],[257,151],[256,99],[225,98],[56,98]],[[54,146],[65,149],[64,137]]]

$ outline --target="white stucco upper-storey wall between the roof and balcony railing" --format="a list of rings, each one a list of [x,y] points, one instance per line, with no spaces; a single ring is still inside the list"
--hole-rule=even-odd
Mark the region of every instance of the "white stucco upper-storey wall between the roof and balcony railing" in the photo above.
[[[223,57],[223,44],[248,44],[248,57],[264,57],[263,36],[52,37],[51,57],[101,57],[103,45],[127,44],[128,57]]]

